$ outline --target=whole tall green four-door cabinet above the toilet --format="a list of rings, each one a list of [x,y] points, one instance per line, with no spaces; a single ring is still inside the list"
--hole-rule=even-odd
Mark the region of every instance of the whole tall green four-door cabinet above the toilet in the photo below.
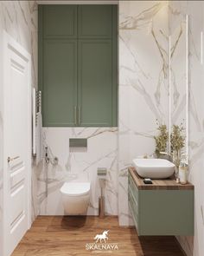
[[[116,5],[39,6],[44,127],[118,124]]]

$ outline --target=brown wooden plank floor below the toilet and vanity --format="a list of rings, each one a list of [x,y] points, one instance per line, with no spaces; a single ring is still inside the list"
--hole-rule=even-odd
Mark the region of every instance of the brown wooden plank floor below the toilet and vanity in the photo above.
[[[108,243],[116,251],[88,251],[96,234],[109,230]],[[133,227],[118,226],[118,217],[39,216],[16,247],[13,256],[83,256],[92,253],[117,256],[183,256],[174,237],[137,237]]]

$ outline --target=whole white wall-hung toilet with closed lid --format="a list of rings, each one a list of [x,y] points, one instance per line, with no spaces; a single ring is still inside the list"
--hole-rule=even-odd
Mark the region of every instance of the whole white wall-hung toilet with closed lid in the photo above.
[[[89,182],[65,182],[61,187],[66,215],[86,215],[90,201]]]

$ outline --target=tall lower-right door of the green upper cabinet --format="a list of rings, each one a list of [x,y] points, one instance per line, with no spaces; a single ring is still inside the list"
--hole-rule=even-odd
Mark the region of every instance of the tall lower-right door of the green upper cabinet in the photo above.
[[[112,126],[112,41],[80,40],[78,61],[79,124]]]

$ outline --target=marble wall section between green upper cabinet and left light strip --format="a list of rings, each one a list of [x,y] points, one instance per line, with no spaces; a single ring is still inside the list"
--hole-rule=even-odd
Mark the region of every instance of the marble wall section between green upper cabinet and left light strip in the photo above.
[[[127,167],[153,154],[156,119],[169,126],[168,1],[119,2],[118,215],[132,223]]]

